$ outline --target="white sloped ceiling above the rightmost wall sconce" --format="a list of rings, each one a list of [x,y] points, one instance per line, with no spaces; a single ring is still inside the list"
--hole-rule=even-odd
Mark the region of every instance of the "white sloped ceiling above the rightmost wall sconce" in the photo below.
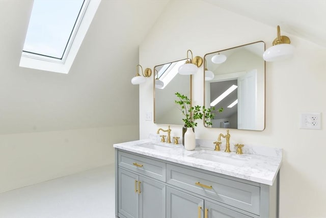
[[[276,27],[279,25],[281,35],[284,31],[326,47],[326,1],[324,0],[203,1],[275,27],[275,36],[271,36],[271,42],[277,37]]]

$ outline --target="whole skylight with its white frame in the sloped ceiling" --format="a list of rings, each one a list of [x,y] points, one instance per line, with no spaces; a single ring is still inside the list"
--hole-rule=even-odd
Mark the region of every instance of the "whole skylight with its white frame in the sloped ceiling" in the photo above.
[[[34,0],[19,66],[68,74],[101,0]]]

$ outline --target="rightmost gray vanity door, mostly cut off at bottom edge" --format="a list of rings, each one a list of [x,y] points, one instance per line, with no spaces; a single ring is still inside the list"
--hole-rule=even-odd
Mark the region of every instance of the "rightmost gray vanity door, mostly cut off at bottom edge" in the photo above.
[[[236,212],[226,207],[214,204],[209,201],[205,201],[204,209],[205,218],[250,218],[252,216],[247,216],[242,213]]]

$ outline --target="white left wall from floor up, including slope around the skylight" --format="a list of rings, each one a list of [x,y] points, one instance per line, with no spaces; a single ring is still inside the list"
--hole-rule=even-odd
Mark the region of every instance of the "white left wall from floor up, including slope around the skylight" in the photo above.
[[[113,143],[139,138],[130,80],[165,3],[102,1],[69,74],[57,74],[19,67],[33,1],[0,0],[0,192],[112,163]]]

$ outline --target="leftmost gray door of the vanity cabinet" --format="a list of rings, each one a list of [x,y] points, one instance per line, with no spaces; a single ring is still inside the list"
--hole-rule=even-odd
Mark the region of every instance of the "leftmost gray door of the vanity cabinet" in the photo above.
[[[139,217],[139,176],[118,168],[118,212],[126,218]]]

